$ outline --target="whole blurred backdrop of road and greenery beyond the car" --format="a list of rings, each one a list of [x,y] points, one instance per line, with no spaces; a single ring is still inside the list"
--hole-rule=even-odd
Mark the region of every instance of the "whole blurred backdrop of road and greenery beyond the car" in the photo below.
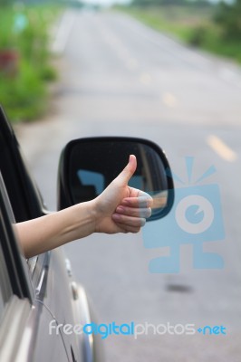
[[[241,360],[240,19],[240,0],[0,0],[0,103],[50,209],[72,138],[149,138],[166,150],[177,188],[217,170],[204,184],[220,189],[225,239],[203,249],[221,255],[224,269],[195,269],[185,244],[178,273],[150,273],[174,236],[153,249],[143,238],[161,240],[170,216],[144,236],[98,234],[64,247],[102,323],[227,328],[112,336],[107,362]],[[194,157],[190,180],[185,157]]]

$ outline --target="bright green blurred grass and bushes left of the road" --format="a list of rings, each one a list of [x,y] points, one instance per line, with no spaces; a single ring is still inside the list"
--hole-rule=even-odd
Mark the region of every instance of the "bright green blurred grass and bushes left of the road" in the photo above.
[[[0,12],[0,54],[14,61],[0,70],[0,103],[8,118],[29,121],[48,109],[48,83],[57,78],[49,52],[50,27],[60,8],[6,7]]]

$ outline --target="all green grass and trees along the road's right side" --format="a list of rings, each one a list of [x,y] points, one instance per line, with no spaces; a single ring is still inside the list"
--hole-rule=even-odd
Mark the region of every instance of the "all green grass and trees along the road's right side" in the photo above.
[[[241,0],[229,5],[203,0],[173,0],[179,5],[164,5],[165,1],[133,0],[132,4],[119,8],[184,43],[241,62]]]

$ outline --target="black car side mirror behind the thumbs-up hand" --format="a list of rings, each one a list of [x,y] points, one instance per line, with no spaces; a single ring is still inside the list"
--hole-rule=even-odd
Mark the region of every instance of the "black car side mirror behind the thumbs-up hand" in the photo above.
[[[130,154],[137,157],[138,166],[129,186],[154,199],[148,220],[168,214],[174,191],[167,157],[155,143],[141,138],[80,138],[68,143],[59,167],[59,209],[100,195],[127,165]]]

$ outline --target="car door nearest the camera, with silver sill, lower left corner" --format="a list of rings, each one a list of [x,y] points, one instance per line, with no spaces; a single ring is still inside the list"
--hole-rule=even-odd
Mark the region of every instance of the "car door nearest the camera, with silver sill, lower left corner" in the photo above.
[[[34,297],[26,262],[15,240],[14,215],[1,175],[0,215],[0,360],[75,360],[68,357],[61,335],[49,338],[48,323],[53,316]]]

